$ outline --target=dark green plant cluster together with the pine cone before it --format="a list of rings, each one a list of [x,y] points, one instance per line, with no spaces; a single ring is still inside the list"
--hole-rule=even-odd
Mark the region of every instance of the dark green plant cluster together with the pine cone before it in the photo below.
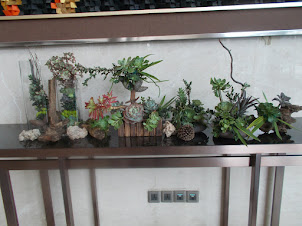
[[[206,129],[207,113],[200,100],[191,100],[192,82],[188,83],[186,80],[183,80],[183,82],[185,89],[178,89],[171,122],[178,131],[178,137],[188,141],[194,138],[195,132]]]

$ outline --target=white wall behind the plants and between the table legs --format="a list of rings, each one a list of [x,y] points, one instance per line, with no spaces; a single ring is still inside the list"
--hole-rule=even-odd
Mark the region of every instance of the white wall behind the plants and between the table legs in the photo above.
[[[280,92],[292,97],[292,103],[302,105],[302,37],[225,39],[234,57],[234,77],[251,85],[248,93],[268,99]],[[77,61],[86,66],[110,67],[111,63],[128,56],[154,54],[150,60],[163,62],[149,72],[169,82],[161,83],[161,92],[168,98],[176,95],[182,79],[193,81],[192,97],[200,99],[205,107],[213,108],[218,100],[214,97],[209,81],[211,77],[229,79],[230,58],[218,40],[194,40],[173,42],[141,42],[83,46],[35,47],[41,62],[53,55],[73,52]],[[0,123],[25,123],[25,112],[19,73],[19,61],[29,59],[26,48],[0,49]],[[47,71],[46,68],[43,71]],[[48,73],[48,72],[47,72]],[[49,74],[48,74],[49,75]],[[234,85],[240,88],[238,85]],[[84,118],[87,111],[84,102],[108,91],[109,80],[98,78],[88,87],[80,86],[80,109]],[[156,99],[155,86],[143,93]],[[120,84],[114,87],[114,95],[127,100],[129,92]],[[296,116],[302,116],[301,113]],[[302,201],[299,188],[302,185],[300,168],[286,169],[286,200],[283,201],[281,225],[301,225],[299,214]],[[269,225],[272,169],[263,168],[258,211],[258,225]],[[300,180],[298,180],[298,178]],[[50,172],[53,202],[57,225],[65,225],[64,208],[58,171]],[[236,168],[231,172],[230,225],[246,225],[248,216],[250,169]],[[93,225],[92,204],[89,194],[88,171],[70,171],[74,217],[76,225]],[[46,225],[41,208],[43,200],[39,190],[38,173],[13,172],[12,181],[20,225]],[[221,169],[124,169],[97,170],[100,218],[102,226],[200,226],[219,225],[221,199]],[[192,189],[201,193],[198,204],[148,204],[147,191]],[[300,193],[299,193],[300,192]],[[127,194],[127,195],[125,195]],[[294,194],[300,194],[296,196]],[[34,197],[34,202],[28,199]],[[290,224],[289,224],[290,222]],[[0,225],[6,225],[0,202]]]

